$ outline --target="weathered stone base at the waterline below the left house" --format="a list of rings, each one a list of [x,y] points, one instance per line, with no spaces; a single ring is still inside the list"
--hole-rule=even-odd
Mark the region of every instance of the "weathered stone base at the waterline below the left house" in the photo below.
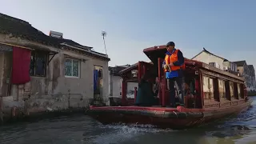
[[[10,97],[1,99],[0,121],[2,124],[83,114],[93,102],[92,99],[82,98],[80,94],[33,96],[23,101],[13,101]]]

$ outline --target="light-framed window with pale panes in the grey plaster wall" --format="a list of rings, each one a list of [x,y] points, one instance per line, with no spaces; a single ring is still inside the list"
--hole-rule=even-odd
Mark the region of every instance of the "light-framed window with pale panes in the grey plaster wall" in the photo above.
[[[79,78],[80,61],[76,59],[65,59],[65,77]]]

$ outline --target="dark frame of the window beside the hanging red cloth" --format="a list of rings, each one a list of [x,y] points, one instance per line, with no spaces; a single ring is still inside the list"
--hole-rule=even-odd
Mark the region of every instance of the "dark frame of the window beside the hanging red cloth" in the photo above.
[[[37,75],[35,74],[36,71],[36,61],[32,61],[31,57],[33,56],[34,58],[37,58],[37,54],[44,54],[44,58],[45,58],[45,66],[44,66],[44,74],[43,75]],[[30,70],[31,70],[31,63],[34,63],[34,70],[33,70],[33,74],[30,74],[30,77],[40,77],[40,78],[46,78],[46,72],[47,72],[47,63],[48,63],[48,56],[49,54],[46,51],[42,51],[42,50],[32,50],[31,54],[30,54]]]

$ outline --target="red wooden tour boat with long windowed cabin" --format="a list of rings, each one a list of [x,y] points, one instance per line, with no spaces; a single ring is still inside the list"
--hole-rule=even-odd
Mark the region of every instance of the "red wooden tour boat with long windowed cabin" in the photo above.
[[[184,129],[239,114],[250,107],[252,100],[246,96],[244,78],[190,59],[185,60],[184,74],[190,95],[194,96],[185,96],[185,106],[166,107],[170,103],[162,70],[166,48],[154,46],[143,52],[152,62],[138,62],[120,72],[123,78],[122,106],[90,106],[88,114],[92,118],[103,124],[123,122]],[[137,87],[134,88],[134,98],[126,96],[130,83],[140,82],[146,73],[150,74],[151,80],[159,78],[158,106],[134,106]]]

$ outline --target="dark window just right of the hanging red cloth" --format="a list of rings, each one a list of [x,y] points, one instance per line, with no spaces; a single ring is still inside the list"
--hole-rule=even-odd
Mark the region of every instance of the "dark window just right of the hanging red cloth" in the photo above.
[[[45,77],[47,53],[32,51],[30,57],[30,76]]]

